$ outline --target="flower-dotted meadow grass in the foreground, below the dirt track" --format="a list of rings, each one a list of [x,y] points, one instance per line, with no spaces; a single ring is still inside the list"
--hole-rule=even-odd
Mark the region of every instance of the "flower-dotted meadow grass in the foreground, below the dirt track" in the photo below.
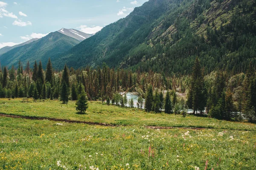
[[[207,170],[256,167],[254,131],[187,132],[3,117],[0,128],[0,170],[195,170],[204,169],[207,160]]]

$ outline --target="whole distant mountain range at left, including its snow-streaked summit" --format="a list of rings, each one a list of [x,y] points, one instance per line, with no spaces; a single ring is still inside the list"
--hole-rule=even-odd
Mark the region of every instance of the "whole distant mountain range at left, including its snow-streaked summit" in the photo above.
[[[41,39],[32,39],[13,47],[1,48],[0,62],[11,67],[17,66],[19,61],[25,65],[27,61],[31,63],[41,60],[45,67],[49,57],[54,59],[58,54],[64,53],[90,36],[92,35],[76,29],[62,28]]]

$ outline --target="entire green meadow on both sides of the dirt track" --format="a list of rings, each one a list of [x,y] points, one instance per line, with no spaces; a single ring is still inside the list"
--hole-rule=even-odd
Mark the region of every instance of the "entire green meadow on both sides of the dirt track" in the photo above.
[[[250,123],[146,113],[101,102],[90,102],[87,114],[79,115],[75,102],[0,99],[0,112],[116,125],[0,117],[0,170],[256,168],[256,127]]]

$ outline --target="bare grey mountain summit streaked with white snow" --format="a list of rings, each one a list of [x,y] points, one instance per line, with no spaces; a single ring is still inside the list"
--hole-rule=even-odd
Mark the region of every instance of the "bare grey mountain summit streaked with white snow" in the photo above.
[[[61,34],[67,35],[69,37],[72,37],[79,41],[83,41],[92,36],[92,34],[86,34],[84,32],[78,31],[76,29],[61,28],[58,32]]]

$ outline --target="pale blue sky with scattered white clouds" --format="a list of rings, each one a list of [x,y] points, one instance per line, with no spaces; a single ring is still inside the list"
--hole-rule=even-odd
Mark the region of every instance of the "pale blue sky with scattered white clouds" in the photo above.
[[[61,28],[88,34],[126,17],[148,0],[0,0],[0,48]]]

